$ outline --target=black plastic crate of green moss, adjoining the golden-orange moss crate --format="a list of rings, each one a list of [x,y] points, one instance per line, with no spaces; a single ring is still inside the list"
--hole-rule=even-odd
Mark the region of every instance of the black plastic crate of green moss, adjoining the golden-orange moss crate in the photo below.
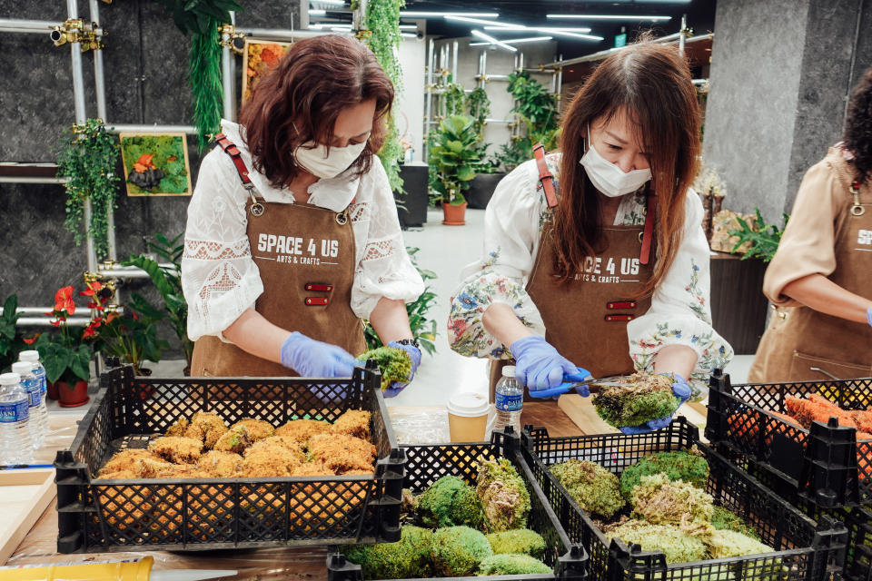
[[[496,434],[494,443],[433,444],[403,447],[406,453],[406,478],[404,488],[421,494],[433,482],[443,476],[457,476],[475,486],[479,458],[509,458],[518,469],[520,477],[527,482],[530,492],[530,520],[528,527],[545,538],[546,564],[554,567],[549,575],[500,575],[475,577],[440,577],[443,579],[492,579],[493,581],[526,580],[574,580],[587,576],[588,556],[584,548],[573,544],[560,524],[560,517],[548,503],[519,450],[520,439],[510,434]],[[329,581],[363,581],[361,567],[345,560],[341,554],[327,559]],[[372,580],[366,580],[372,581]]]

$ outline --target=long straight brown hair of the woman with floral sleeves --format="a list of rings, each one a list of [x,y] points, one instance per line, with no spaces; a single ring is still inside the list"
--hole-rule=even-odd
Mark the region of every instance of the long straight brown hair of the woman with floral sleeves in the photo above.
[[[653,293],[679,250],[685,196],[697,173],[699,105],[686,60],[673,46],[648,41],[609,55],[572,100],[560,134],[560,202],[554,212],[554,271],[561,282],[603,251],[599,194],[579,163],[588,124],[626,113],[649,153],[649,192],[658,198],[657,260],[639,296]]]

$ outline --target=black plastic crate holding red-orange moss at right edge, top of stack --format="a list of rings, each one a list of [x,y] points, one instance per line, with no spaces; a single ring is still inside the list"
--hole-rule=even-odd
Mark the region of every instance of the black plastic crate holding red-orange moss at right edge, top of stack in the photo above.
[[[788,396],[817,393],[846,410],[872,409],[872,378],[732,385],[716,371],[709,382],[706,438],[781,473],[820,507],[872,504],[872,439],[837,420],[791,425]],[[835,419],[834,419],[835,420]]]

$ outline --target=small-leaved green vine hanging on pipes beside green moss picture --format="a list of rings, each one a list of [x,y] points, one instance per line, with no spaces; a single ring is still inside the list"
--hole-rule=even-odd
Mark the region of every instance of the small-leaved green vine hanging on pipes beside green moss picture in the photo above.
[[[64,186],[64,225],[76,244],[90,236],[100,260],[109,253],[108,216],[116,207],[115,194],[121,182],[115,173],[119,151],[117,138],[106,133],[103,121],[88,119],[64,133],[57,158],[58,177],[69,178]],[[91,201],[91,222],[83,228],[85,200]]]

